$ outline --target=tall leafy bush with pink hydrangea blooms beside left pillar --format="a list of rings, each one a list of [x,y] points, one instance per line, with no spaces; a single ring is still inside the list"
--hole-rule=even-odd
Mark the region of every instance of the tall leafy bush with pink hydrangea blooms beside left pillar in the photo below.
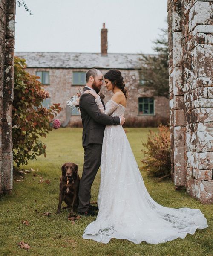
[[[30,75],[25,68],[25,60],[15,57],[12,139],[13,160],[17,167],[41,154],[46,157],[46,146],[40,138],[53,129],[51,122],[61,111],[60,103],[49,109],[42,107],[49,93],[37,80],[39,77]]]

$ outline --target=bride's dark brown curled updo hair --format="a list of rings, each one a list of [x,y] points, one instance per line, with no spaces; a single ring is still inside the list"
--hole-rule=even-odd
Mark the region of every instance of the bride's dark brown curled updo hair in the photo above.
[[[121,76],[121,71],[112,69],[109,70],[105,75],[105,79],[108,79],[114,87],[117,86],[124,93],[125,98],[127,99],[127,89],[125,89],[124,79]]]

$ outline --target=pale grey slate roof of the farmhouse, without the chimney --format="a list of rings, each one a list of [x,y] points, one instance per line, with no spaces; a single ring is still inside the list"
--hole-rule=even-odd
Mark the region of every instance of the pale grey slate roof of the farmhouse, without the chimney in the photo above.
[[[72,52],[15,52],[26,59],[28,67],[39,68],[104,68],[140,69],[139,54],[72,53]]]

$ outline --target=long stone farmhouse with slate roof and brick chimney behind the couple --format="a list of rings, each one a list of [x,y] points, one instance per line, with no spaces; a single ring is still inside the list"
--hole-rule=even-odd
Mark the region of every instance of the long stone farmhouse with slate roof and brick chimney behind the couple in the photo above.
[[[81,124],[78,111],[67,109],[66,100],[84,87],[86,72],[94,67],[103,74],[112,68],[121,70],[129,92],[125,112],[127,125],[157,126],[169,120],[169,99],[154,97],[153,90],[146,87],[140,77],[140,55],[107,52],[105,26],[101,29],[101,53],[16,52],[15,55],[26,59],[29,73],[41,77],[51,97],[44,105],[61,103],[62,112],[58,118],[63,126]],[[105,102],[112,96],[104,86],[101,93],[106,96]]]

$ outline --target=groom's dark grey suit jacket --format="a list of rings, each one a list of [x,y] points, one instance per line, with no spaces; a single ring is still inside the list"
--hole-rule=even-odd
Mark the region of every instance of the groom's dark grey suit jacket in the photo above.
[[[89,90],[85,87],[83,91]],[[101,100],[102,101],[102,100]],[[102,101],[103,105],[104,102]],[[89,93],[82,93],[79,100],[81,119],[83,124],[82,144],[102,144],[106,125],[119,125],[119,116],[107,116],[100,112],[95,97]]]

